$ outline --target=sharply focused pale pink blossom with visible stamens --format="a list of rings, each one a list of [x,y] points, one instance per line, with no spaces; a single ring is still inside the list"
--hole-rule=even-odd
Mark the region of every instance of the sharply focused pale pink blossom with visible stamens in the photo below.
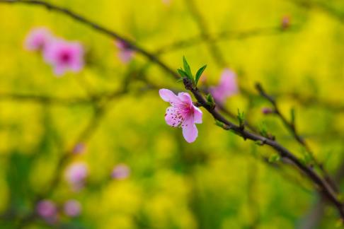
[[[195,123],[202,123],[202,111],[193,105],[193,100],[188,93],[178,93],[175,95],[171,90],[160,89],[160,97],[170,102],[171,107],[167,107],[165,120],[171,127],[181,127],[183,136],[188,143],[192,143],[198,136]]]

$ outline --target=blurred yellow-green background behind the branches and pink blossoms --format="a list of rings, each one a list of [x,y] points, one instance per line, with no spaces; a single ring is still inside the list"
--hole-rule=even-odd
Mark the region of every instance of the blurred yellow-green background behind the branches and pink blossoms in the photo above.
[[[161,59],[172,69],[182,65],[183,55],[194,71],[207,64],[203,85],[217,84],[224,67],[236,71],[241,93],[227,100],[227,109],[239,108],[253,126],[265,125],[303,158],[282,122],[262,114],[269,104],[254,89],[262,83],[287,117],[294,107],[297,129],[316,158],[343,180],[338,172],[344,160],[342,1],[49,2],[150,52],[201,37],[166,49]],[[186,143],[180,129],[166,125],[167,104],[158,93],[183,85],[159,66],[139,54],[122,63],[113,39],[45,8],[0,4],[0,21],[0,228],[340,226],[336,210],[323,204],[306,177],[290,165],[263,162],[261,155],[273,155],[270,148],[220,129],[207,112],[197,125],[197,141]],[[87,49],[83,71],[57,78],[39,54],[26,51],[25,36],[38,26],[81,42]],[[224,31],[229,32],[224,39],[202,39]],[[72,152],[77,144],[84,147],[81,153]],[[88,166],[78,192],[64,179],[76,162]],[[119,164],[130,175],[110,179]],[[81,213],[68,217],[59,210],[57,221],[47,222],[33,216],[40,199],[54,201],[60,210],[76,199]]]

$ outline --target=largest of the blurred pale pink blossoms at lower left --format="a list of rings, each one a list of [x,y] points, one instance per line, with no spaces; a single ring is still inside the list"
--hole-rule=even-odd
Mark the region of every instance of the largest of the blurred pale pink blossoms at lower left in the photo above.
[[[88,167],[85,163],[71,164],[65,173],[66,180],[74,191],[79,191],[84,187],[87,176]]]

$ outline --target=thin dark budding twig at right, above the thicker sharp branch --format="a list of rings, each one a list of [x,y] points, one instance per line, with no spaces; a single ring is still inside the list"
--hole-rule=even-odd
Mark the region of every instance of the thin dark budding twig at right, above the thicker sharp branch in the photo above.
[[[282,112],[280,112],[280,108],[278,107],[275,98],[273,98],[272,96],[268,95],[268,93],[265,92],[265,90],[263,89],[263,86],[261,86],[260,83],[256,84],[256,89],[258,90],[260,95],[263,96],[263,98],[268,100],[271,103],[271,105],[273,105],[273,112],[274,112],[274,114],[276,114],[277,117],[279,117],[282,120],[282,122],[285,125],[285,127],[287,127],[287,129],[292,133],[292,136],[294,136],[294,139],[302,147],[304,147],[304,149],[307,151],[307,153],[309,153],[309,155],[311,156],[311,159],[314,161],[315,165],[323,173],[323,176],[324,176],[325,180],[328,182],[328,184],[331,185],[331,187],[333,188],[334,191],[338,192],[338,187],[336,187],[335,182],[333,182],[332,178],[330,177],[330,175],[328,174],[328,172],[324,168],[323,164],[319,163],[319,161],[314,156],[313,151],[311,151],[311,148],[309,147],[309,144],[306,143],[306,141],[304,141],[302,136],[299,134],[299,132],[298,132],[298,130],[296,128],[295,121],[293,120],[294,118],[292,117],[292,121],[290,121],[290,122],[288,121],[288,119],[282,114]],[[294,116],[294,114],[292,114],[292,116]]]

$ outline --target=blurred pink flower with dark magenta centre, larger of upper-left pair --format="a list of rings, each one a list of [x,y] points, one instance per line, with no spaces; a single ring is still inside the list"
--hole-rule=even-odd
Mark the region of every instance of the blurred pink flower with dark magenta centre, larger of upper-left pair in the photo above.
[[[84,67],[84,47],[79,42],[57,39],[45,48],[44,59],[54,67],[57,76],[66,71],[79,72]]]

